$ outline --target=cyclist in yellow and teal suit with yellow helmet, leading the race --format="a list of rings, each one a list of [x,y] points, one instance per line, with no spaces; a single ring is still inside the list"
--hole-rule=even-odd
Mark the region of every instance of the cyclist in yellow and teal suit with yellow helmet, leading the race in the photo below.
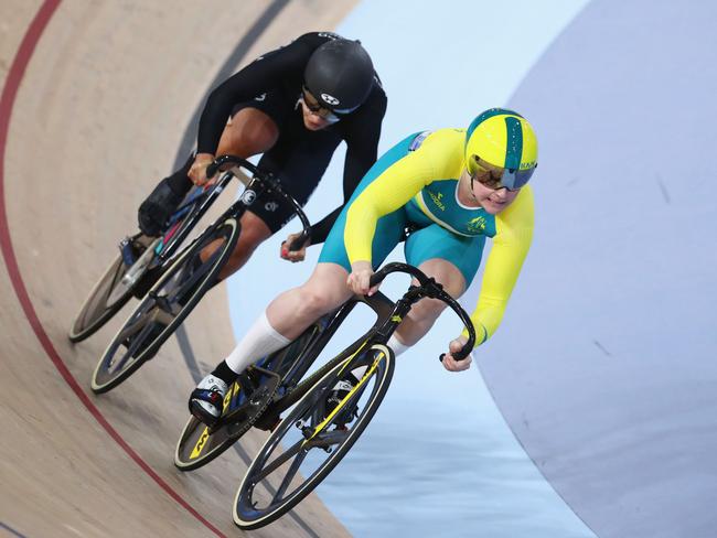
[[[471,315],[477,345],[484,343],[500,325],[531,246],[533,193],[526,183],[536,166],[533,128],[517,112],[502,108],[480,114],[468,129],[418,132],[396,144],[354,191],[310,279],[276,298],[200,383],[190,397],[192,412],[211,423],[221,415],[227,386],[247,366],[287,345],[352,293],[374,293],[370,278],[406,227],[414,229],[405,243],[406,261],[441,282],[452,297],[471,283],[485,238],[492,238]],[[388,345],[398,354],[415,344],[443,308],[428,298],[416,303]],[[452,357],[465,340],[461,334],[449,343],[447,369],[470,366],[470,357]]]

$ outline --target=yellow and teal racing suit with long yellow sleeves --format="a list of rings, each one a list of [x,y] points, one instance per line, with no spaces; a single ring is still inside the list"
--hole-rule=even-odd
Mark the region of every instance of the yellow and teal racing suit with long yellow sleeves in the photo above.
[[[349,271],[357,260],[377,267],[400,240],[396,228],[403,232],[411,225],[420,230],[407,240],[407,261],[417,266],[443,258],[461,270],[468,287],[478,271],[485,238],[492,238],[471,315],[480,344],[497,329],[531,246],[533,193],[529,185],[524,186],[497,215],[461,204],[458,185],[464,168],[464,129],[422,132],[386,152],[336,220],[320,261],[341,263]]]

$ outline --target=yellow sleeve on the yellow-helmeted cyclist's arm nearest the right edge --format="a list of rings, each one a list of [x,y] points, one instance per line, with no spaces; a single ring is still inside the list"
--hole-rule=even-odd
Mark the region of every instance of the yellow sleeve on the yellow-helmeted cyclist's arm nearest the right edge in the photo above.
[[[485,263],[481,292],[471,321],[477,345],[497,330],[523,261],[533,240],[533,191],[521,190],[515,201],[495,218],[496,234]]]

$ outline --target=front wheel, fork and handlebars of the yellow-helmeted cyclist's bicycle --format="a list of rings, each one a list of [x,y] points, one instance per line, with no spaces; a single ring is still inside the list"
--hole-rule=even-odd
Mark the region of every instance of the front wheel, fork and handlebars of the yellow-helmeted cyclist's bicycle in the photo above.
[[[336,466],[378,409],[394,372],[395,355],[386,345],[411,305],[422,298],[443,301],[465,325],[469,337],[454,354],[463,359],[475,343],[469,314],[440,283],[406,263],[388,263],[371,279],[375,286],[393,272],[418,281],[410,286],[367,335],[343,353],[329,369],[308,379],[296,406],[275,427],[249,465],[234,499],[234,523],[256,529],[276,520],[309,495]],[[443,355],[440,356],[442,361]],[[338,384],[354,373],[355,386],[330,405]],[[303,384],[302,384],[303,385]],[[299,390],[297,390],[299,392]],[[296,398],[293,398],[296,400]]]

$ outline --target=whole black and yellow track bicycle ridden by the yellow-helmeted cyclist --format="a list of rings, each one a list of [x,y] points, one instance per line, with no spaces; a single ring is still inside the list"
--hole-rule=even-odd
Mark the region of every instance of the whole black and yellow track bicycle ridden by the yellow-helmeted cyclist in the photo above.
[[[406,263],[388,263],[374,275],[372,286],[392,272],[411,275],[419,286],[411,286],[395,303],[381,292],[350,299],[309,326],[287,347],[242,373],[227,390],[222,416],[215,424],[206,426],[193,416],[186,422],[174,453],[174,464],[181,471],[205,465],[252,427],[272,431],[235,498],[234,520],[242,528],[261,527],[290,510],[313,491],[355,442],[390,381],[395,357],[386,342],[415,302],[424,297],[446,302],[469,331],[469,340],[456,357],[464,358],[472,349],[475,332],[468,313],[438,282]],[[374,325],[304,379],[329,340],[360,302],[376,313]],[[362,369],[365,373],[357,376],[360,381],[354,389],[329,409],[329,392],[349,373]],[[280,419],[287,410],[289,413]],[[291,435],[299,439],[292,440]],[[280,443],[288,449],[281,452]],[[300,470],[301,464],[312,460],[315,463],[315,449],[329,458],[306,473]],[[277,478],[277,472],[283,473],[283,477]],[[303,475],[307,478],[302,478]],[[297,481],[299,484],[293,484]]]

